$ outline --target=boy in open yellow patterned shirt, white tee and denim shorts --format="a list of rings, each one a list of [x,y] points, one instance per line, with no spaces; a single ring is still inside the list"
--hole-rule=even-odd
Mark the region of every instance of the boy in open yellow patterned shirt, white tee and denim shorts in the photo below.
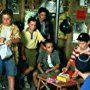
[[[15,57],[17,57],[18,60],[17,44],[20,41],[19,29],[16,25],[12,24],[12,18],[12,10],[3,10],[2,23],[0,24],[0,46],[4,44],[10,47],[13,55],[5,59],[2,59],[0,55],[0,77],[2,76],[3,70],[5,70],[5,75],[7,75],[8,78],[9,90],[14,90],[15,86],[15,76],[17,74]]]

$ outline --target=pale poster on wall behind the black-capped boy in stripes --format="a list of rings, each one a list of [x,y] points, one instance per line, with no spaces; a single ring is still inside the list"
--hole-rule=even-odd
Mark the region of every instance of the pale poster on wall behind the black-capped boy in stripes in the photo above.
[[[77,43],[77,37],[80,33],[87,32],[85,22],[75,22],[73,26],[73,42]]]

